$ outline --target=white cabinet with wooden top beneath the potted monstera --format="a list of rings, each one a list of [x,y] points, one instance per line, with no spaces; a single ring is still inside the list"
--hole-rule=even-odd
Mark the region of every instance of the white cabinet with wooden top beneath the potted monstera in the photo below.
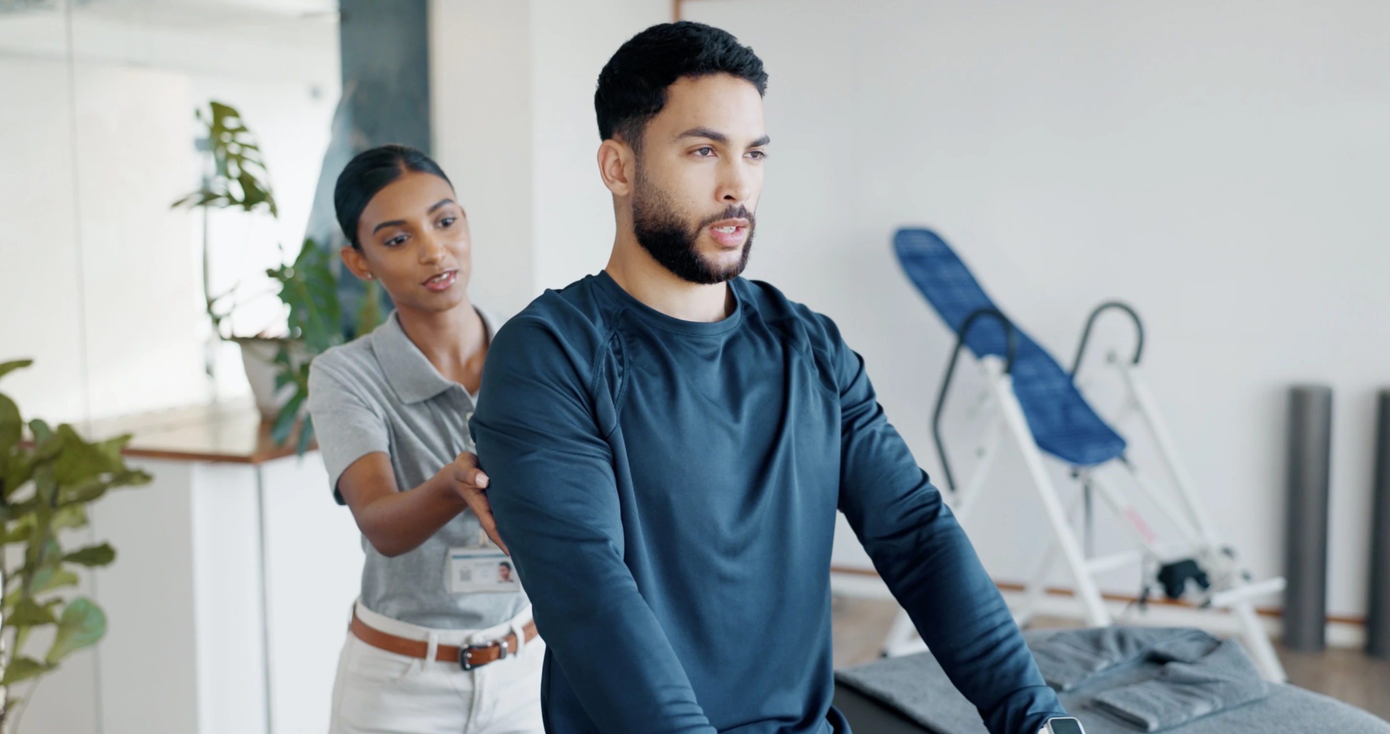
[[[254,413],[175,423],[136,428],[129,460],[154,482],[93,507],[92,535],[117,549],[85,589],[106,609],[107,635],[39,685],[22,734],[328,728],[361,578],[352,514],[332,500],[317,452],[257,448]],[[189,430],[203,445],[177,441]]]

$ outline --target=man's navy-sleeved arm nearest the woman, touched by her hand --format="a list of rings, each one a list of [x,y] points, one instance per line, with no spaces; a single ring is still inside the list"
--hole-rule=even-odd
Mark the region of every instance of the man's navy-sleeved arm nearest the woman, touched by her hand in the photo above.
[[[582,352],[525,314],[488,350],[470,427],[498,528],[552,662],[599,730],[713,734],[623,562],[613,452]]]

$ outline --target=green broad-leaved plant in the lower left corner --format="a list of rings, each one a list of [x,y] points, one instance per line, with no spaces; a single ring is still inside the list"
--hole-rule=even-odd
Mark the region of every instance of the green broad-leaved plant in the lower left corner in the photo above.
[[[32,360],[0,363],[0,378]],[[29,439],[25,439],[28,428]],[[108,566],[108,544],[68,548],[74,530],[88,525],[88,506],[117,487],[147,484],[150,475],[121,457],[129,435],[88,442],[68,424],[28,423],[13,399],[0,392],[0,731],[8,733],[22,712],[15,684],[58,667],[72,652],[96,645],[106,634],[106,614],[86,596],[67,589],[79,584],[76,567]],[[68,532],[65,532],[68,531]],[[10,546],[18,546],[11,549]],[[32,645],[35,630],[53,639]]]

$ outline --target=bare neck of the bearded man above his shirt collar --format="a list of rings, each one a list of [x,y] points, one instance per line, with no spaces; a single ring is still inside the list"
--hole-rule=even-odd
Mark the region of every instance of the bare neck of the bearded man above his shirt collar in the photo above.
[[[630,296],[671,318],[723,321],[734,309],[728,284],[701,285],[678,278],[638,245],[631,229],[619,231],[603,270]]]

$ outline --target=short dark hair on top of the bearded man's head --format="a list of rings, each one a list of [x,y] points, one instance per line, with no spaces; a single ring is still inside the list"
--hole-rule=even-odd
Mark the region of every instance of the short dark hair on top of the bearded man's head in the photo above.
[[[762,58],[728,31],[680,21],[630,38],[599,72],[594,92],[599,139],[617,138],[641,149],[646,122],[666,107],[666,89],[681,76],[710,74],[746,79],[759,95],[767,90]]]

